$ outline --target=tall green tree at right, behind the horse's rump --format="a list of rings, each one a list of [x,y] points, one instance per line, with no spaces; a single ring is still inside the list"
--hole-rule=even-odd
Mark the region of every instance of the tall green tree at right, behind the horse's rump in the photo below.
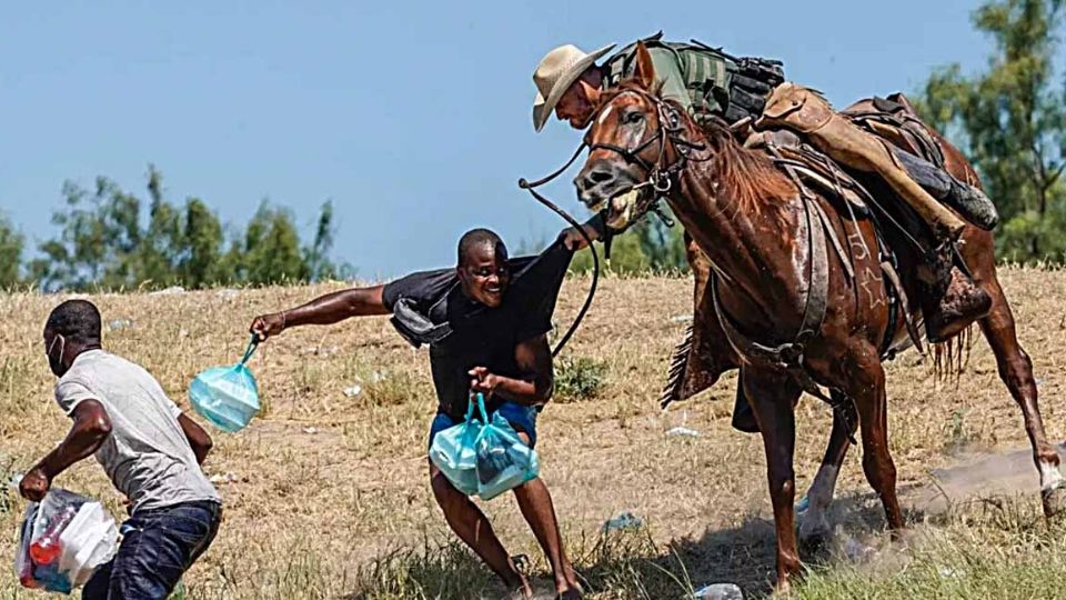
[[[973,14],[995,52],[985,72],[937,69],[921,110],[973,161],[1003,223],[1002,258],[1066,260],[1066,86],[1056,81],[1064,0],[994,0]]]

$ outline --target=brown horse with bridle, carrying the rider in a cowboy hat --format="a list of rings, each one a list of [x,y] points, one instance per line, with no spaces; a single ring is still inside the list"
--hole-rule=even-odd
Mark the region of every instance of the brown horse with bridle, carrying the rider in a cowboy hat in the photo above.
[[[902,337],[905,319],[888,330],[888,292],[877,253],[871,251],[878,241],[868,218],[846,218],[832,199],[801,189],[765,154],[742,148],[728,129],[695,126],[683,110],[654,93],[646,49],[638,47],[636,57],[633,79],[602,100],[575,186],[587,206],[607,203],[609,224],[615,229],[638,218],[656,196],[664,197],[714,271],[718,286],[704,292],[710,297],[704,306],[712,302],[718,319],[704,322],[730,341],[733,353],[720,353],[718,368],[740,366],[740,384],[763,437],[778,586],[786,588],[800,569],[793,449],[794,408],[803,391],[824,397],[818,386],[826,387],[833,391],[828,400],[839,409],[813,484],[812,507],[821,510],[832,499],[852,429],[848,409],[854,407],[867,481],[881,497],[888,527],[904,524],[888,452],[878,349],[886,338]],[[964,181],[976,181],[957,151],[948,153],[948,166],[964,174]],[[827,239],[834,238],[835,243],[846,240],[848,250],[827,250]],[[964,248],[976,282],[995,299],[982,328],[1025,414],[1045,511],[1050,513],[1066,496],[1058,456],[1045,439],[1030,363],[1017,344],[995,279],[992,238],[971,228]],[[818,518],[824,521],[823,513]]]

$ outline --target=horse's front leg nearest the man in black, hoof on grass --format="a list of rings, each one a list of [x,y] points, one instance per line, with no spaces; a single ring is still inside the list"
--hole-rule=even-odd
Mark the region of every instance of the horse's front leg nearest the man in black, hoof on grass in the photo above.
[[[766,449],[770,500],[774,507],[774,528],[777,532],[777,590],[786,591],[790,580],[801,569],[793,506],[796,496],[793,471],[796,444],[794,409],[801,390],[784,373],[768,369],[744,367],[741,379]]]

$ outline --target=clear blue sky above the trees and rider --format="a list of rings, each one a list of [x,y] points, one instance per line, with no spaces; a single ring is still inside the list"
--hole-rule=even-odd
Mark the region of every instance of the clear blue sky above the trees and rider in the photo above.
[[[332,199],[335,254],[361,278],[447,264],[472,227],[512,246],[562,227],[515,186],[580,141],[531,124],[530,76],[561,43],[662,29],[780,58],[838,106],[989,49],[961,0],[44,4],[0,19],[0,212],[31,243],[54,233],[63,180],[141,193],[151,162],[171,200],[228,222],[269,198],[310,236]],[[551,191],[577,211],[569,183]]]

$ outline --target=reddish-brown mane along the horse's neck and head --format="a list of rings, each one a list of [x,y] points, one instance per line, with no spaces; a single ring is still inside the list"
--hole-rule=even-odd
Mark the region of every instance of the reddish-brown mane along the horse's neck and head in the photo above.
[[[704,143],[712,151],[713,158],[707,163],[710,174],[718,182],[720,193],[736,202],[740,210],[758,213],[764,207],[782,204],[796,196],[795,186],[774,167],[770,158],[741,146],[725,121],[712,117],[703,124],[697,124],[680,103],[663,99],[662,90],[662,81],[648,91],[635,80],[626,79],[601,94],[596,110],[599,112],[626,91],[651,93],[674,107],[691,126],[688,129],[698,132],[701,139],[690,141]]]

